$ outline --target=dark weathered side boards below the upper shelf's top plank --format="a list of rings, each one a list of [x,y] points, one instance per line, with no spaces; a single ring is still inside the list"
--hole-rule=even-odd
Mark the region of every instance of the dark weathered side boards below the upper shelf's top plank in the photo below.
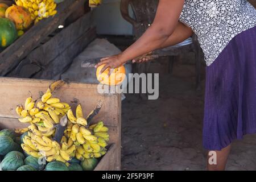
[[[92,31],[86,32],[92,26],[91,13],[85,14],[76,22],[70,24],[64,28],[59,34],[53,36],[48,42],[42,46],[34,49],[24,60],[20,61],[19,65],[9,75],[10,77],[22,77],[30,78],[39,71],[44,71],[48,67],[53,67],[54,73],[47,73],[45,79],[51,79],[57,73],[63,71],[61,68],[71,63],[73,57],[80,53],[82,48],[85,48],[95,36]],[[84,42],[81,42],[81,38],[84,38]],[[80,40],[80,41],[79,41]],[[69,51],[69,49],[75,49]],[[67,56],[67,52],[69,52]],[[64,54],[64,55],[61,55]],[[67,56],[67,57],[65,57]],[[60,60],[60,58],[62,60]],[[51,62],[60,61],[59,65],[55,67],[57,63]],[[39,77],[38,75],[37,77]]]

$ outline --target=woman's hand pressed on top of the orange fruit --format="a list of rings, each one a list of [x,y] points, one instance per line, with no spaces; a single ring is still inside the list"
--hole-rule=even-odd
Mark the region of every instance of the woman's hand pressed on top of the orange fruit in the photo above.
[[[123,60],[121,58],[121,54],[110,56],[110,57],[104,57],[101,59],[100,63],[98,63],[95,68],[100,67],[102,64],[106,64],[102,69],[101,73],[103,73],[108,68],[118,68],[121,67],[123,64],[126,63],[126,60]]]

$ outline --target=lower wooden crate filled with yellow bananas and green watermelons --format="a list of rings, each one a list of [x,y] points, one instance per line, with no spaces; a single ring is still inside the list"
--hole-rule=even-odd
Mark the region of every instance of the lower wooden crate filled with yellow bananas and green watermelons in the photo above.
[[[26,78],[2,77],[0,88],[2,170],[120,169],[119,94]]]

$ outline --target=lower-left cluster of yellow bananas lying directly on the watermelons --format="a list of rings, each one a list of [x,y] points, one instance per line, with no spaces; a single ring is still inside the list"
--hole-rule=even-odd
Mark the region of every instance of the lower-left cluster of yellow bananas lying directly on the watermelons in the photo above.
[[[58,160],[69,166],[68,161],[75,156],[76,146],[73,142],[67,142],[67,138],[61,139],[61,144],[51,137],[40,134],[33,124],[29,127],[28,136],[23,138],[22,148],[35,158],[44,157],[47,162]]]

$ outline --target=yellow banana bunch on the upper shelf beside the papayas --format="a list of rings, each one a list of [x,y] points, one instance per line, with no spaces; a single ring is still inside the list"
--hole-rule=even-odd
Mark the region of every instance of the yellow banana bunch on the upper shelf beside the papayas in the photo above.
[[[43,18],[48,18],[57,13],[57,4],[53,0],[15,0],[15,3],[30,12],[34,23],[38,23]]]

